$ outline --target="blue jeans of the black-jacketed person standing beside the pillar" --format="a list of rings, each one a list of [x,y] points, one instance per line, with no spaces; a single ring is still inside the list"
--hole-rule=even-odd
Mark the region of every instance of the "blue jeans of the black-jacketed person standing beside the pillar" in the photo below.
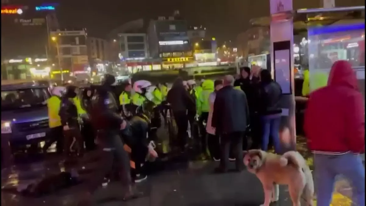
[[[262,121],[262,150],[268,150],[269,137],[272,137],[275,152],[281,152],[280,143],[280,121],[281,114],[266,115],[261,117]]]

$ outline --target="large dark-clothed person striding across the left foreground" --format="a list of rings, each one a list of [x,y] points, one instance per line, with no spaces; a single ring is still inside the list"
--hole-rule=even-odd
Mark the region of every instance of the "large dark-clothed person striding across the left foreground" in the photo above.
[[[113,168],[113,162],[117,161],[120,170],[120,177],[123,186],[123,200],[129,200],[140,195],[135,192],[132,186],[130,173],[130,158],[124,150],[124,143],[121,138],[121,130],[125,130],[127,121],[119,114],[119,107],[112,93],[112,84],[115,77],[106,74],[104,82],[92,99],[93,112],[91,112],[91,121],[99,129],[98,139],[101,144],[101,162],[96,169],[94,177],[90,181],[89,191],[82,196],[82,203],[89,202],[92,199],[92,193],[100,187],[104,177],[109,174]]]

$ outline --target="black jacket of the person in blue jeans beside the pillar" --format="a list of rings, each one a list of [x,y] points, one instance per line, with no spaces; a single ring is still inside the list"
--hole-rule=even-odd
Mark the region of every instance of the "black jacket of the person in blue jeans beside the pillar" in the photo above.
[[[275,82],[261,83],[259,86],[259,114],[271,115],[282,113],[281,108],[281,86]]]

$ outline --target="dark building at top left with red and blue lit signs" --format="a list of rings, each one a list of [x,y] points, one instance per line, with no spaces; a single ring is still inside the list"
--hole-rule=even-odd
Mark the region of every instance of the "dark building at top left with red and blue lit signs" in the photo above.
[[[59,28],[57,4],[1,5],[1,58],[47,58],[49,30]]]

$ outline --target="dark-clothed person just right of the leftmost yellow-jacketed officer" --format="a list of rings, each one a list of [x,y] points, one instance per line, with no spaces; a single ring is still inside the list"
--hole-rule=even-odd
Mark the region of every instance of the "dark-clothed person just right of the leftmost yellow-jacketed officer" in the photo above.
[[[67,156],[74,137],[78,143],[78,154],[84,154],[84,140],[80,132],[78,108],[74,103],[76,87],[68,86],[66,94],[61,100],[59,115],[64,134],[64,154]]]

